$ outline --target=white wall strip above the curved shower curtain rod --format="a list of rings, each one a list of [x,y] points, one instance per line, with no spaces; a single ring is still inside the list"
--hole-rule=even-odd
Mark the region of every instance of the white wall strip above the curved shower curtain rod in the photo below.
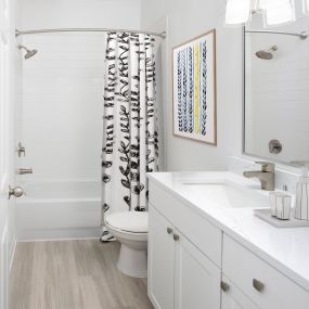
[[[140,27],[141,0],[22,0],[24,29]]]

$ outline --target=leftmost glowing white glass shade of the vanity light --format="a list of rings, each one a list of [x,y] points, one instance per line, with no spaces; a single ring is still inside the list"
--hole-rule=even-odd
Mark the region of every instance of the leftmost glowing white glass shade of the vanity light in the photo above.
[[[245,24],[250,16],[250,0],[228,0],[226,24]]]

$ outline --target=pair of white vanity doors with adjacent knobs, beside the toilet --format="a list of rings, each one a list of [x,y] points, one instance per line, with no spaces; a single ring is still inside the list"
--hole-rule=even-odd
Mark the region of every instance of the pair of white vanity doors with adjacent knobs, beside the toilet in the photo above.
[[[220,308],[220,269],[150,206],[149,296],[157,309]]]

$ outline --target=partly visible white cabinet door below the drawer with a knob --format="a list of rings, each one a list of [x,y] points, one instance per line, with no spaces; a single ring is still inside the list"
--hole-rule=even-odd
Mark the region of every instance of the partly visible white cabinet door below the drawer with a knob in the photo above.
[[[221,309],[259,309],[226,276],[222,278]]]

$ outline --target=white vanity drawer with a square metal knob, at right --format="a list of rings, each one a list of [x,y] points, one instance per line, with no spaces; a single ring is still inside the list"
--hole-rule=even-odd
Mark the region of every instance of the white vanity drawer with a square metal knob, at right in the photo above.
[[[309,308],[307,291],[226,234],[222,271],[259,308]]]

